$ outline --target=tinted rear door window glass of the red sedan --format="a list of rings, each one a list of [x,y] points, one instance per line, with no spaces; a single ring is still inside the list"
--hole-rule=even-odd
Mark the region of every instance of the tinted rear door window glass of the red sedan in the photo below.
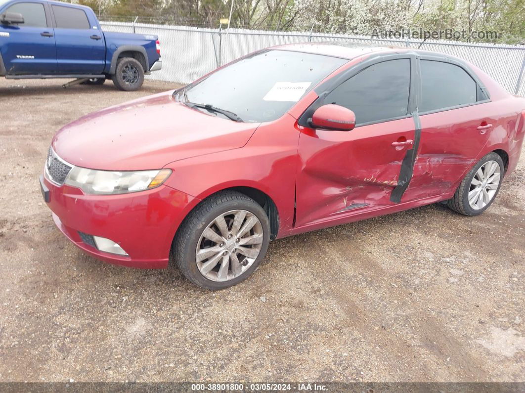
[[[422,102],[419,112],[476,102],[476,82],[461,67],[443,61],[421,60]]]

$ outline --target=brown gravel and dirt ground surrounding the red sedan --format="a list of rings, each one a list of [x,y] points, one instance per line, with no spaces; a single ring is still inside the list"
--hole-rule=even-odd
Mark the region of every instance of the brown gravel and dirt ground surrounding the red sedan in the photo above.
[[[0,79],[0,381],[524,381],[525,158],[483,215],[431,205],[272,242],[207,292],[92,259],[37,177],[80,115],[174,85]]]

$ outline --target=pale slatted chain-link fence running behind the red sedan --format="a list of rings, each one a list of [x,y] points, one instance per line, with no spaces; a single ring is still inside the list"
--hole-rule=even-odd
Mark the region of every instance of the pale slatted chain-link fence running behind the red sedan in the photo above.
[[[188,26],[101,22],[107,31],[159,36],[163,67],[149,78],[189,83],[209,71],[270,46],[306,41],[353,41],[373,46],[403,46],[432,50],[465,59],[488,73],[513,94],[525,96],[525,47],[492,44],[468,44],[455,41],[375,39],[370,37],[261,31],[248,29],[211,29]]]

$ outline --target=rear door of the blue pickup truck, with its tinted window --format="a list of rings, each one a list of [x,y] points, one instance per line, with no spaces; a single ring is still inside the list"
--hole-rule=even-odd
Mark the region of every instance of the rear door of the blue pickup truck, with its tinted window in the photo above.
[[[58,73],[99,74],[106,62],[106,42],[95,15],[83,7],[52,4]]]

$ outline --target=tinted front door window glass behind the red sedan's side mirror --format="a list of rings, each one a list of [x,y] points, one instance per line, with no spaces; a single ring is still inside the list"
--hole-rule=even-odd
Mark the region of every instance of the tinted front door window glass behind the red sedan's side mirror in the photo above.
[[[406,115],[410,91],[410,60],[388,60],[374,64],[341,83],[324,102],[355,113],[358,124]]]

